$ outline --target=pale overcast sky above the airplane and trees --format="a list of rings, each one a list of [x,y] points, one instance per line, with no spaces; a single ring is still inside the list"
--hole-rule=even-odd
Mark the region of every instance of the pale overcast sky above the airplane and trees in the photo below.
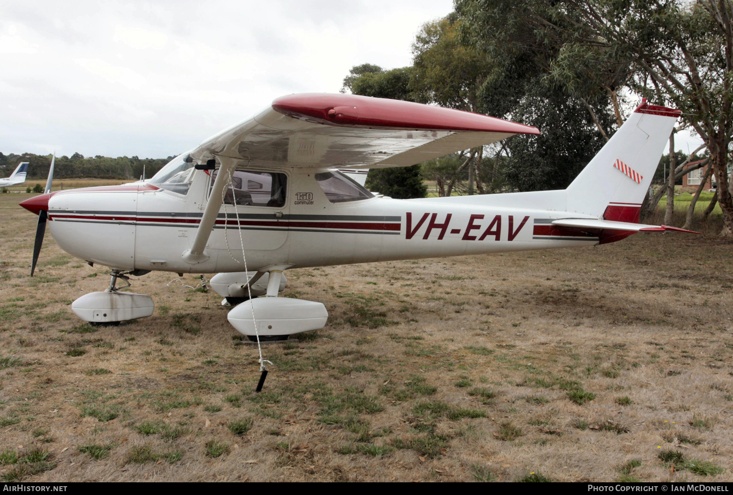
[[[354,65],[412,63],[452,0],[5,1],[0,152],[167,157]],[[677,148],[696,141],[679,136]]]

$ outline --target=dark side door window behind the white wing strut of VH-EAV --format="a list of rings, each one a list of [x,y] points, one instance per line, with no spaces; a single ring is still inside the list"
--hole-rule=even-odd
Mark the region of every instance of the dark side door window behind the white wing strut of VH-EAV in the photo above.
[[[214,185],[218,169],[211,174],[211,187]],[[224,190],[225,204],[241,206],[285,206],[287,176],[271,172],[237,170],[232,174],[232,185]]]

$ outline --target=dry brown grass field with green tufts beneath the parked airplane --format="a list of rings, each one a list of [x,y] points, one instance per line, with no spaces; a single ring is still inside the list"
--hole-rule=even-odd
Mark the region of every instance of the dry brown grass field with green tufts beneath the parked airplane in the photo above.
[[[257,347],[213,292],[150,273],[153,316],[82,324],[108,275],[0,196],[0,479],[733,479],[732,247],[577,250],[288,271],[325,329]]]

